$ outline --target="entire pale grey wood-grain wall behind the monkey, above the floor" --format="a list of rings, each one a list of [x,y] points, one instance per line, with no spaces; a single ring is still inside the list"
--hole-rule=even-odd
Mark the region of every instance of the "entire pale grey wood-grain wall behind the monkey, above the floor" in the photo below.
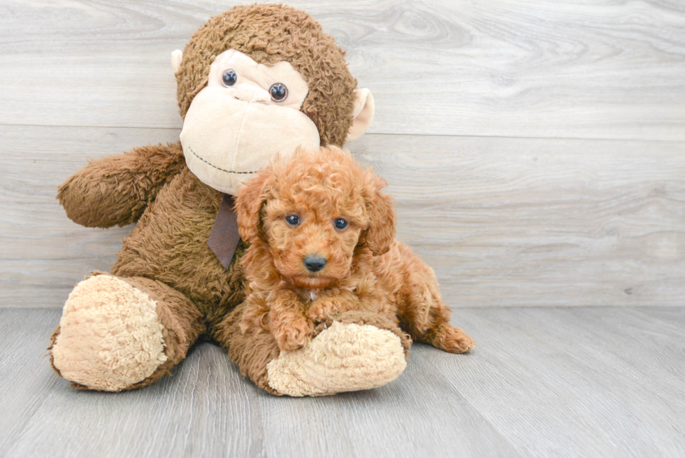
[[[131,227],[87,158],[175,141],[170,54],[229,1],[0,1],[0,306],[61,307]],[[685,3],[294,1],[375,96],[349,148],[457,307],[685,303]]]

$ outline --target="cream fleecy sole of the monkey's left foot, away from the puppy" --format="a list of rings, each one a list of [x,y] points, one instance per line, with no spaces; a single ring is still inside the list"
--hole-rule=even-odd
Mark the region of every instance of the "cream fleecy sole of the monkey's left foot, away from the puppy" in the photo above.
[[[78,387],[121,391],[166,361],[157,303],[111,275],[78,283],[52,336],[55,370]]]

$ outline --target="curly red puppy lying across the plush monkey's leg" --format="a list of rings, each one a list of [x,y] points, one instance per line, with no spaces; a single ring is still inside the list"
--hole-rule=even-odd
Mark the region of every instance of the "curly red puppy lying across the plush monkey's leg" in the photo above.
[[[250,243],[243,332],[271,331],[281,350],[350,310],[391,317],[417,341],[466,352],[433,270],[395,240],[385,181],[339,148],[298,149],[240,190],[238,228]]]

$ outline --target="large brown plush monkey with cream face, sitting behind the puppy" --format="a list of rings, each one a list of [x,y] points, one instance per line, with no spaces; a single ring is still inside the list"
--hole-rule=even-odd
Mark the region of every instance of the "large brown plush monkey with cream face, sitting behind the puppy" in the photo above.
[[[343,145],[366,131],[373,98],[356,90],[343,50],[302,11],[238,6],[212,17],[172,62],[180,143],[91,162],[59,187],[79,224],[138,224],[111,273],[69,295],[50,345],[55,371],[80,388],[143,387],[206,335],[275,394],[331,394],[396,378],[405,367],[401,340],[379,317],[336,323],[287,353],[237,324],[244,246],[234,237],[230,194],[277,152]]]

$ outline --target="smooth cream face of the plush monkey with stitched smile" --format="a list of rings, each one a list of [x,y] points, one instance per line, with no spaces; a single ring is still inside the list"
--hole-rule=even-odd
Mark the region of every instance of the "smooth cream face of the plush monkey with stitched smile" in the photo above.
[[[222,85],[226,69],[238,75],[231,87]],[[274,83],[288,87],[287,99],[271,99]],[[300,111],[307,92],[288,62],[266,66],[235,50],[222,53],[183,122],[180,140],[189,169],[206,185],[236,194],[276,153],[291,155],[299,145],[319,148],[316,124]]]

